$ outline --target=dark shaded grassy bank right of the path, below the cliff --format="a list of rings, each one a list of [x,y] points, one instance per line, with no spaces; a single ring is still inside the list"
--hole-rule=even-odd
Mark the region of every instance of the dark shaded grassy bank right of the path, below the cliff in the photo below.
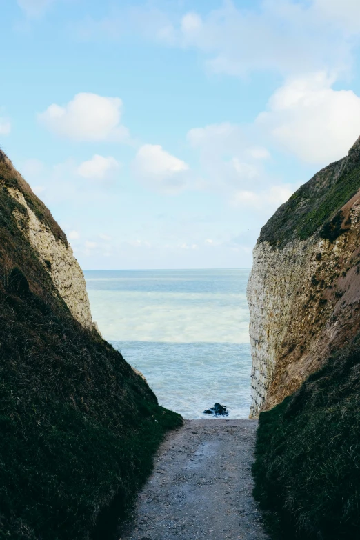
[[[274,539],[359,538],[360,337],[260,414],[253,473]]]

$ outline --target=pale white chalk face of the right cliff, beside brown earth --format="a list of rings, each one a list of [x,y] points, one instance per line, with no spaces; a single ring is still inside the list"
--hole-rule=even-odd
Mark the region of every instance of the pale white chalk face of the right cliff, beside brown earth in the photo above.
[[[312,275],[317,272],[315,255],[319,245],[294,241],[283,250],[271,248],[268,242],[254,248],[254,259],[248,281],[250,308],[250,343],[252,350],[250,417],[263,408],[277,362],[284,344],[300,341],[303,316],[299,306],[308,301]],[[294,317],[299,325],[294,328]],[[297,377],[301,381],[301,377]],[[281,388],[278,390],[279,397]]]

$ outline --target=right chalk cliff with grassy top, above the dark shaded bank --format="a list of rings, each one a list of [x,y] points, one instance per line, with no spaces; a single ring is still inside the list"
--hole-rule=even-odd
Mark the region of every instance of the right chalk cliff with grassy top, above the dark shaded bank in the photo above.
[[[360,139],[261,230],[248,283],[250,417],[297,390],[360,328]]]

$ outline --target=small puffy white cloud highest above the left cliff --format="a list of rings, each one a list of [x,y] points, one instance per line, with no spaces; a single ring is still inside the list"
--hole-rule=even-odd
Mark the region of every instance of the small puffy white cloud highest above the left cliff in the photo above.
[[[65,106],[56,103],[38,115],[48,130],[74,141],[119,141],[129,138],[120,123],[122,101],[118,97],[80,93]]]

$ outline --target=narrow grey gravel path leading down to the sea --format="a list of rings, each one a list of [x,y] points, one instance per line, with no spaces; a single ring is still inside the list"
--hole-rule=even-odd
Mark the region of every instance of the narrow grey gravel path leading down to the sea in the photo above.
[[[256,428],[209,419],[172,432],[121,540],[267,540],[252,499]]]

